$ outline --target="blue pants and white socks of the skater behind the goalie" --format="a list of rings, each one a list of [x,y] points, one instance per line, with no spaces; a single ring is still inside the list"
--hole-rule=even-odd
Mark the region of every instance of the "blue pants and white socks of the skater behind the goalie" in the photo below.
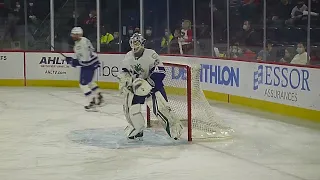
[[[94,74],[97,68],[95,67],[81,67],[80,69],[80,88],[83,94],[92,101],[94,96],[99,93],[99,86],[93,82]]]

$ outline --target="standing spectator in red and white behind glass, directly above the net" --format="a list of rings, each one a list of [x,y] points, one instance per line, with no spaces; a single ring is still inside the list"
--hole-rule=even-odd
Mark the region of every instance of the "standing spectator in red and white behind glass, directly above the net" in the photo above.
[[[181,37],[179,38],[179,41],[181,42],[184,54],[193,54],[193,36],[191,22],[189,20],[184,20],[182,23]]]

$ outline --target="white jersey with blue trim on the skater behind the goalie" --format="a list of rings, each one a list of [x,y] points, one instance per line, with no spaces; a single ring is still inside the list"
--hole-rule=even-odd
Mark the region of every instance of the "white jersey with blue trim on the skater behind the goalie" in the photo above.
[[[98,55],[94,52],[89,39],[81,37],[79,41],[75,42],[73,47],[74,59],[79,61],[80,66],[95,66],[99,64]]]

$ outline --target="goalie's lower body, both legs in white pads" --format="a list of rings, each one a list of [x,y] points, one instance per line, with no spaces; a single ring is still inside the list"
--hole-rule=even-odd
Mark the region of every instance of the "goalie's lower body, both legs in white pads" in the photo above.
[[[141,113],[141,105],[147,102],[155,116],[160,120],[167,134],[172,138],[181,136],[182,125],[174,116],[167,104],[167,95],[164,88],[152,93],[151,96],[136,96],[131,92],[126,93],[123,110],[129,126],[125,129],[127,137],[135,136],[145,127],[145,119]]]

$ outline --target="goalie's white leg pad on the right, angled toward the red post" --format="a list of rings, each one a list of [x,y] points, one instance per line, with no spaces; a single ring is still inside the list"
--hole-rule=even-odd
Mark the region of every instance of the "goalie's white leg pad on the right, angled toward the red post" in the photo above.
[[[150,98],[148,98],[147,104],[152,107],[153,113],[160,120],[163,128],[170,137],[179,139],[183,126],[174,112],[171,111],[164,89],[157,91]]]

